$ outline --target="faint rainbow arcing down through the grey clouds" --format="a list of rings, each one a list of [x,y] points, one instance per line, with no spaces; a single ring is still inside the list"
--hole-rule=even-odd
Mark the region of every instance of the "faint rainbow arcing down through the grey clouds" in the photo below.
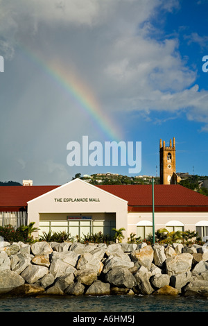
[[[42,60],[40,56],[31,53],[25,47],[21,46],[21,50],[24,49],[26,56],[35,62],[39,68],[44,71],[47,76],[53,78],[55,83],[72,98],[78,104],[78,107],[82,113],[87,114],[89,119],[94,122],[94,126],[98,130],[99,134],[103,134],[103,138],[106,141],[121,141],[122,132],[116,126],[115,121],[110,120],[107,117],[106,112],[101,110],[101,105],[96,100],[92,89],[89,89],[87,83],[83,82],[83,78],[78,78],[77,74],[73,71],[65,69],[60,62],[49,60]]]

